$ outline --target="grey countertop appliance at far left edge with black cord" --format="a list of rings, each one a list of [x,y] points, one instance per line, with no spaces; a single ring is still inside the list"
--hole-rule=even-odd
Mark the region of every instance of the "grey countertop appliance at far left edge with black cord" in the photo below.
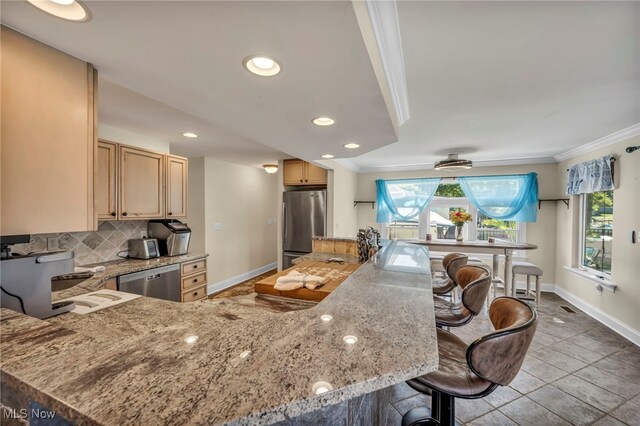
[[[0,262],[0,306],[36,318],[75,308],[73,302],[51,303],[51,278],[73,272],[73,252],[13,255]]]

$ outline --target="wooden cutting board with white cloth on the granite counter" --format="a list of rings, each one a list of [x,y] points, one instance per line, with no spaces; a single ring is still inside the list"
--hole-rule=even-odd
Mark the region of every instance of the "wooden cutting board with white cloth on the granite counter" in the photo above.
[[[285,269],[282,272],[278,272],[275,275],[271,275],[263,280],[257,281],[255,284],[256,293],[269,294],[272,296],[290,297],[292,299],[311,300],[319,302],[335,290],[344,280],[349,278],[349,275],[360,267],[358,263],[326,263],[326,262],[312,262],[304,261],[298,263],[289,269]],[[279,277],[287,275],[289,272],[296,270],[303,274],[317,275],[320,277],[328,277],[329,280],[325,285],[316,289],[309,290],[308,288],[299,288],[297,290],[280,291],[274,288],[276,280]]]

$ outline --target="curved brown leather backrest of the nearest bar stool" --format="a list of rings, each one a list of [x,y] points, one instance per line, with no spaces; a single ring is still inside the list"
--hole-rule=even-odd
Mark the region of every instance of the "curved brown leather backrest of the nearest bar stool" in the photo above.
[[[469,345],[467,363],[479,377],[507,386],[524,362],[538,315],[521,300],[498,297],[491,303],[489,317],[496,331]]]

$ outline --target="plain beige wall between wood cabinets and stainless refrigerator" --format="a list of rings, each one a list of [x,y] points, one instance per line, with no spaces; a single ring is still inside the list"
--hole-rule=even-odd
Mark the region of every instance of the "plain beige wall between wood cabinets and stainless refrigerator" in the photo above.
[[[204,159],[210,285],[276,262],[277,176],[255,167]],[[190,197],[191,185],[190,180]],[[214,223],[221,223],[222,229],[214,231]]]

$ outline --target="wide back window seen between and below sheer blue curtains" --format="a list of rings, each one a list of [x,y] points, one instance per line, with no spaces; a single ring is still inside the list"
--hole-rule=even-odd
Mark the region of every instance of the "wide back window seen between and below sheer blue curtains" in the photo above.
[[[435,196],[419,217],[410,221],[394,221],[382,226],[382,235],[392,240],[424,239],[431,234],[434,240],[455,239],[455,226],[449,220],[449,213],[462,210],[471,213],[474,221],[464,228],[466,240],[487,240],[495,237],[510,241],[525,241],[525,224],[512,220],[492,219],[469,203],[462,188],[457,183],[441,183]]]

